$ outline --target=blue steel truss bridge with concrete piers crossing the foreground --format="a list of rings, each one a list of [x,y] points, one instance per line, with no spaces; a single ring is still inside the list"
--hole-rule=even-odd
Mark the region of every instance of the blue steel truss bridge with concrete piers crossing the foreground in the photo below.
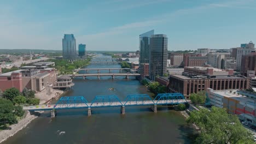
[[[83,96],[61,97],[53,105],[24,106],[24,110],[34,111],[51,111],[51,117],[55,117],[58,109],[88,109],[88,115],[91,115],[93,107],[121,107],[121,113],[125,113],[125,106],[142,106],[149,105],[156,112],[157,105],[177,105],[187,103],[184,95],[181,93],[162,93],[156,95],[154,99],[148,94],[130,94],[121,101],[117,95],[97,95],[91,103]]]

